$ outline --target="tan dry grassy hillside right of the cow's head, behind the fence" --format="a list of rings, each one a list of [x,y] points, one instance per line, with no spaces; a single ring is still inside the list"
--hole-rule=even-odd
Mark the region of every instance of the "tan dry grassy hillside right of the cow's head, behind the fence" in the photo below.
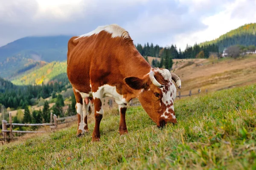
[[[212,63],[213,62],[213,63]],[[198,92],[205,93],[234,86],[256,84],[256,55],[244,58],[188,59],[176,60],[173,70],[182,82],[181,95]]]

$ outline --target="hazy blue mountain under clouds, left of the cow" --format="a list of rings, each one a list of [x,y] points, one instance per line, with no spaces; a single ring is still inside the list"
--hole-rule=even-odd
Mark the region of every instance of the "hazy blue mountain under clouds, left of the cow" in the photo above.
[[[24,37],[0,47],[1,77],[12,78],[35,66],[67,60],[67,42],[70,37]]]

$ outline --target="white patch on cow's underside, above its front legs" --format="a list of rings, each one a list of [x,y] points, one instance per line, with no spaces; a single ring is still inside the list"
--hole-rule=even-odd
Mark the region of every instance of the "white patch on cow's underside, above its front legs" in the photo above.
[[[93,92],[93,99],[99,98],[102,100],[102,98],[109,96],[113,97],[117,104],[127,104],[128,102],[123,98],[123,95],[120,95],[116,91],[116,86],[110,86],[108,84],[104,84],[103,86],[100,86],[99,89],[96,92]]]

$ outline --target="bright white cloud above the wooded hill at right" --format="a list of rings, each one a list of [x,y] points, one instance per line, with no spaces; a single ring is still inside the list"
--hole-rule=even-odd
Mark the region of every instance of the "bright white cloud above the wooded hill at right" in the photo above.
[[[218,1],[218,0],[217,0]],[[181,49],[186,48],[186,44],[193,45],[207,40],[213,40],[236,29],[246,23],[256,22],[256,1],[253,0],[236,0],[225,1],[222,3],[218,12],[201,17],[206,29],[195,31],[190,34],[182,33],[175,35],[175,42]],[[241,13],[241,14],[240,14]]]

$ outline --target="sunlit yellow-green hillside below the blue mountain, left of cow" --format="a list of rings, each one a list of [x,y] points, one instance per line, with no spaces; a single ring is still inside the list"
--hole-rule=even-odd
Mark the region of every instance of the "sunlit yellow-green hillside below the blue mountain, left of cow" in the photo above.
[[[42,84],[49,82],[56,76],[63,77],[62,75],[67,72],[67,62],[51,62],[47,65],[35,69],[29,73],[19,75],[12,80],[13,84],[16,85],[27,85],[27,84]],[[61,75],[61,76],[60,76]]]

